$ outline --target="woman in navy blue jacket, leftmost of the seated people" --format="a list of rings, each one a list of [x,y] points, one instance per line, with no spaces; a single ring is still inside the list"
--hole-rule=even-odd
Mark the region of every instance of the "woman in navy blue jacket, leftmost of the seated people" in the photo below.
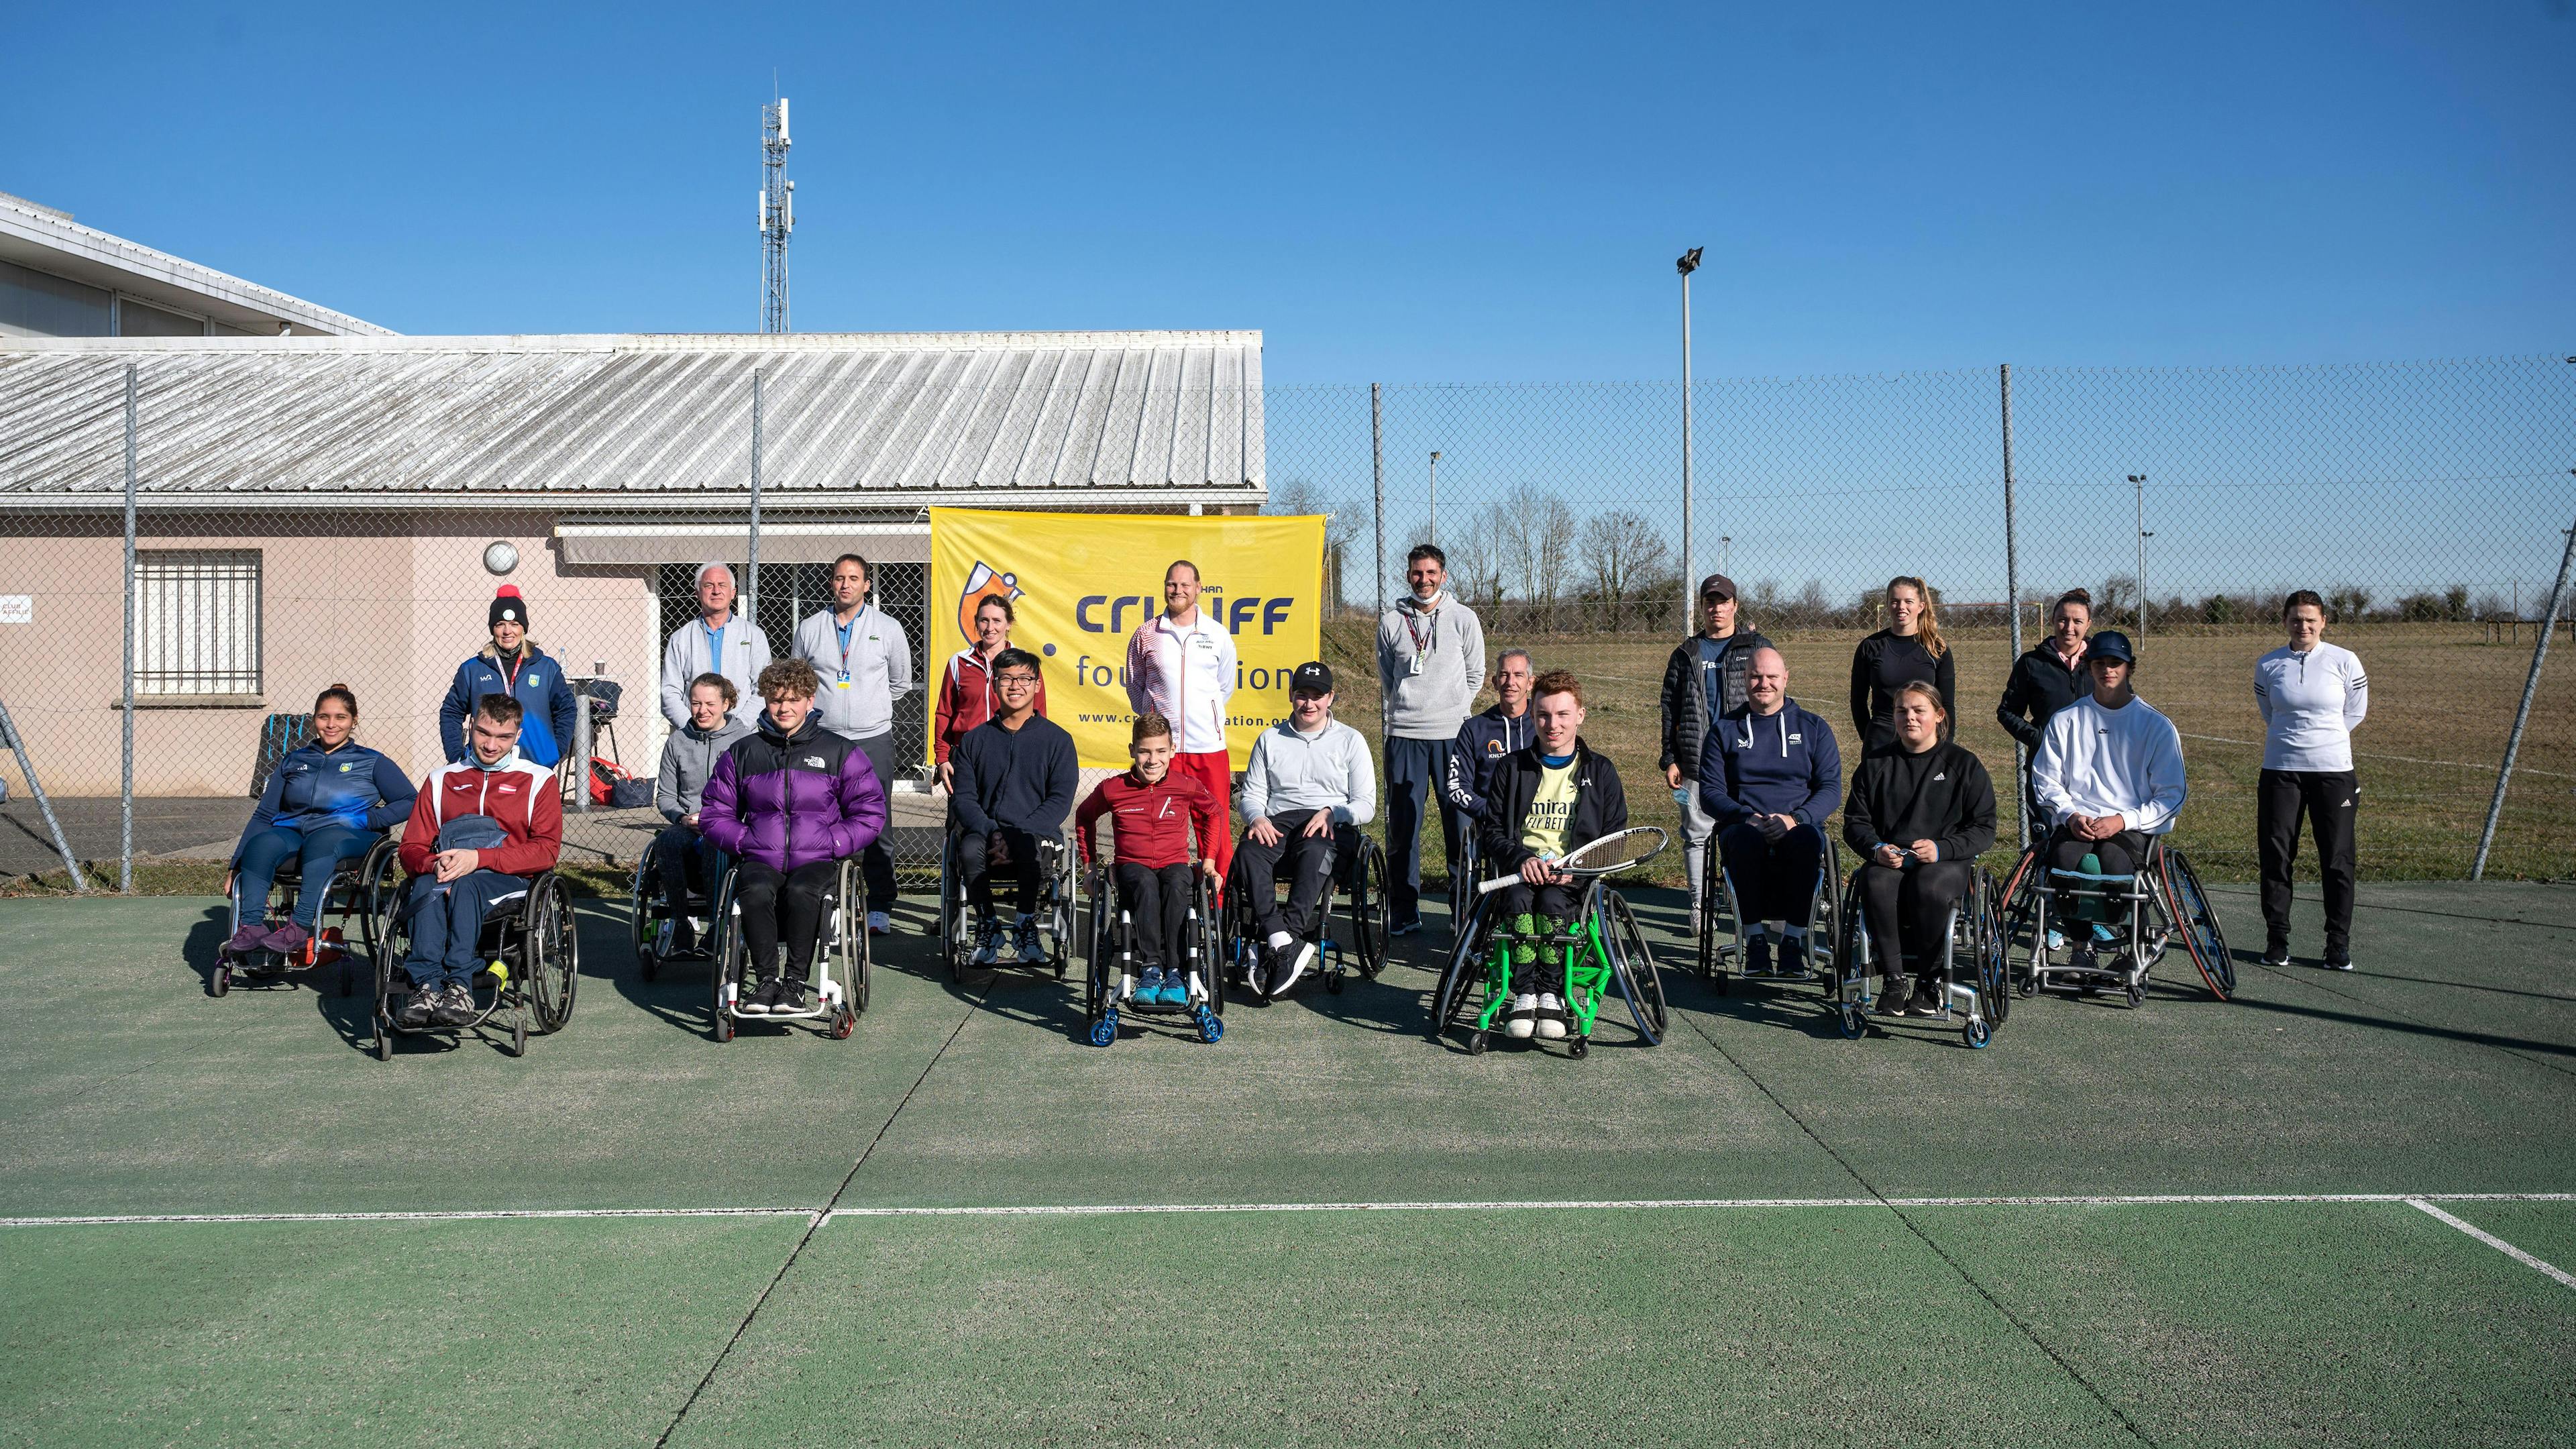
[[[358,730],[358,696],[345,683],[314,699],[314,737],[291,750],[268,773],[260,807],[250,812],[242,841],[232,848],[232,941],[224,949],[247,957],[276,951],[294,957],[314,936],[322,915],[325,882],[386,830],[412,815],[412,781],[402,766],[350,740]],[[296,918],[276,931],[260,920],[268,887],[289,859],[304,861],[304,890],[296,892]]]

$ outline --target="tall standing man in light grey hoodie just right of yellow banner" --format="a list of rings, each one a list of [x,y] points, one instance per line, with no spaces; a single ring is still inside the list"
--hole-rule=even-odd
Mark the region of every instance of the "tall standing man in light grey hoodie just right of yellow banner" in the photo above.
[[[1440,841],[1458,859],[1466,825],[1445,810],[1443,786],[1458,727],[1484,688],[1484,624],[1448,596],[1448,554],[1414,544],[1404,557],[1414,588],[1378,621],[1378,699],[1386,701],[1386,905],[1396,936],[1422,931],[1422,802],[1440,810]]]

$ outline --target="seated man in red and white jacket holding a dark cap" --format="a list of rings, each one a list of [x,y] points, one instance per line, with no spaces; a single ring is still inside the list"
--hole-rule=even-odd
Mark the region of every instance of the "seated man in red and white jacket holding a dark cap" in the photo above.
[[[402,1026],[474,1021],[474,946],[484,913],[528,892],[528,877],[564,853],[564,797],[554,771],[518,753],[523,706],[507,694],[474,701],[466,758],[430,771],[402,828],[402,869],[412,871],[412,954],[402,969],[412,998]]]

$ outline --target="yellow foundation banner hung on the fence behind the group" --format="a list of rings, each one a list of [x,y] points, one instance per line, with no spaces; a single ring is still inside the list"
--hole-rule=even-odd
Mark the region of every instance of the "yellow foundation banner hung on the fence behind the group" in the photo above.
[[[1198,611],[1234,634],[1226,753],[1288,717],[1288,676],[1316,657],[1324,518],[1182,518],[1172,513],[930,511],[930,660],[974,645],[974,608],[1010,596],[1012,647],[1046,660],[1046,714],[1074,732],[1084,766],[1128,763],[1126,645],[1162,614],[1162,572],[1198,565]],[[938,694],[938,691],[925,691]]]

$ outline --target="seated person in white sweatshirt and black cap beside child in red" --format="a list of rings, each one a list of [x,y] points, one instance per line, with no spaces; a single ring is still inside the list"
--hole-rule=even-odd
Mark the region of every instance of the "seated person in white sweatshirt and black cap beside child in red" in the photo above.
[[[1303,663],[1288,678],[1288,719],[1262,730],[1244,766],[1244,838],[1234,846],[1260,954],[1252,990],[1285,995],[1314,964],[1306,928],[1324,908],[1345,835],[1378,812],[1368,737],[1332,717],[1332,670]],[[1278,877],[1288,874],[1288,908]]]

